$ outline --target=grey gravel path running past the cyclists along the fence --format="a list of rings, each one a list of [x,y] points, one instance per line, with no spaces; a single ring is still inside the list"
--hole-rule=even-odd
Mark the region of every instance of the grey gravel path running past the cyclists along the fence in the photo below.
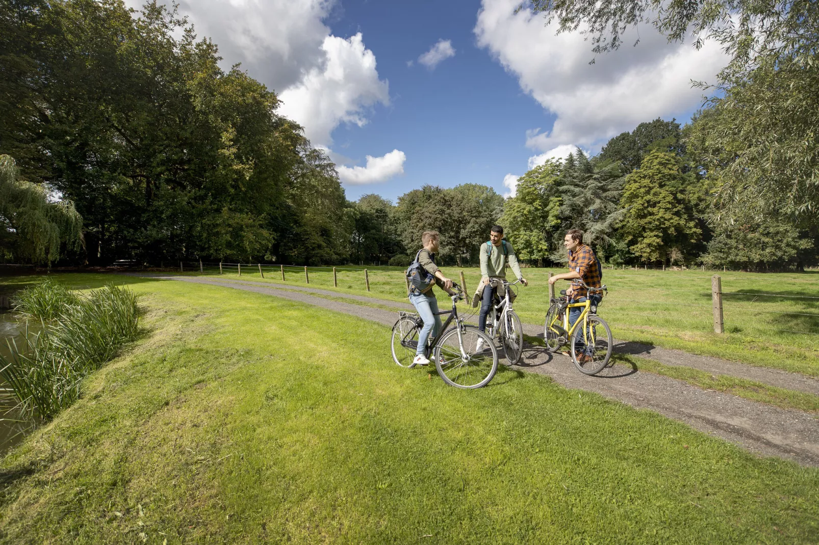
[[[145,277],[149,275],[134,274],[133,276]],[[328,300],[310,294],[332,295],[365,303],[387,304],[396,309],[409,307],[408,304],[394,301],[378,300],[360,295],[339,294],[335,291],[319,290],[306,286],[294,288],[294,286],[262,282],[214,280],[205,277],[150,276],[275,295],[283,299],[313,304],[325,309],[366,318],[390,327],[396,321],[395,312],[373,309],[360,304]],[[524,327],[524,329],[532,331],[534,331],[534,328],[534,326]],[[633,345],[625,344],[624,348],[634,350]],[[623,344],[621,343],[620,346],[622,347]],[[687,361],[686,358],[680,355],[685,353],[677,350],[647,348],[649,349],[648,352],[641,349],[644,351],[635,355],[650,355],[651,358],[671,365],[688,365],[688,363],[684,363]],[[631,352],[627,353],[631,354]],[[686,354],[686,356],[691,361],[704,367],[713,366],[715,363],[723,365],[723,360],[717,358],[704,358],[691,356],[690,354]],[[654,410],[667,417],[686,422],[697,430],[739,444],[753,453],[784,457],[807,466],[819,466],[819,418],[808,413],[771,407],[764,403],[756,403],[713,390],[702,390],[688,385],[684,381],[678,381],[667,376],[635,372],[629,366],[615,366],[610,370],[609,375],[604,377],[585,376],[577,372],[570,358],[560,354],[549,354],[537,347],[528,347],[524,351],[521,363],[515,368],[550,376],[555,382],[568,388],[595,392],[607,398],[627,403],[632,407]],[[731,364],[733,366],[742,366],[737,368],[743,372],[750,367],[740,363]],[[689,365],[689,367],[695,366]],[[758,367],[750,368],[760,370]],[[720,369],[719,372],[724,372],[726,367],[720,367]],[[711,371],[710,368],[707,370]],[[764,371],[773,370],[767,369]],[[794,373],[786,373],[786,375],[794,375]],[[776,377],[776,374],[771,374],[771,376]],[[781,384],[790,384],[786,382],[789,380],[792,379],[784,379]],[[794,384],[799,384],[799,381],[793,380]]]

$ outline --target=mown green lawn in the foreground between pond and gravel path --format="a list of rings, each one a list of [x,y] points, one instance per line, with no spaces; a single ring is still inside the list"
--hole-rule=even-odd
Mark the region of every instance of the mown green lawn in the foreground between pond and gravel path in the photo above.
[[[75,284],[102,282],[76,275]],[[387,327],[137,282],[152,334],[2,464],[8,543],[814,543],[819,471]]]

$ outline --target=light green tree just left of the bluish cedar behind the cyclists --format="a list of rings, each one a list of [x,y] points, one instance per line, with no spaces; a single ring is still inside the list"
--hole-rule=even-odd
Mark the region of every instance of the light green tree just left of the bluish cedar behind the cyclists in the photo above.
[[[555,245],[561,225],[559,176],[559,161],[536,166],[518,178],[516,195],[504,204],[500,224],[505,227],[506,238],[514,245],[518,259],[537,259],[542,263],[559,251]]]

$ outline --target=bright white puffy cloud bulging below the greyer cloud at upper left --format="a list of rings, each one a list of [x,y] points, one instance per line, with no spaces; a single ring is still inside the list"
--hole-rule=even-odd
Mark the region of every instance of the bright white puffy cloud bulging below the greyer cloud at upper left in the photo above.
[[[334,128],[364,126],[364,111],[378,102],[389,104],[390,93],[387,82],[378,79],[375,55],[364,47],[361,33],[347,40],[328,36],[321,48],[326,62],[279,94],[279,113],[301,124],[314,145],[330,146]]]

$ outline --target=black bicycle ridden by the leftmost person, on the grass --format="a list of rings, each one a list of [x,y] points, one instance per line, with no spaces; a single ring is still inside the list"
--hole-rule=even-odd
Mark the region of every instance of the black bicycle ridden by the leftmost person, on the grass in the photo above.
[[[451,295],[452,310],[437,314],[449,314],[441,331],[428,340],[424,354],[434,353],[432,359],[438,375],[444,382],[456,388],[480,388],[489,384],[498,370],[498,351],[490,336],[477,327],[464,323],[458,316],[456,304],[464,300],[464,290],[453,283],[455,295]],[[455,322],[454,327],[450,324]],[[418,313],[399,312],[398,321],[392,327],[392,359],[401,367],[415,367],[413,360],[418,349],[418,337],[423,320]],[[478,349],[478,340],[482,348]]]

